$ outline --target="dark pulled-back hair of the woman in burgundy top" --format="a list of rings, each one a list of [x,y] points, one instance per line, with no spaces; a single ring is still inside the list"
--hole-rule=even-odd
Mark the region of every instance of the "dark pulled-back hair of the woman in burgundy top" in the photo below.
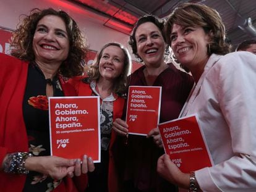
[[[132,53],[135,55],[135,57],[139,58],[141,61],[142,61],[142,59],[140,58],[139,54],[137,53],[137,42],[135,39],[135,33],[137,31],[137,28],[140,25],[142,25],[143,23],[147,23],[147,22],[151,22],[151,23],[155,24],[156,27],[158,27],[159,30],[161,31],[161,34],[164,38],[164,35],[163,35],[164,23],[162,20],[160,20],[155,15],[144,15],[143,17],[140,17],[140,19],[134,25],[134,29],[132,30],[132,34],[130,35],[128,43],[129,43],[130,47],[132,48]],[[164,38],[164,41],[165,41],[165,38]]]

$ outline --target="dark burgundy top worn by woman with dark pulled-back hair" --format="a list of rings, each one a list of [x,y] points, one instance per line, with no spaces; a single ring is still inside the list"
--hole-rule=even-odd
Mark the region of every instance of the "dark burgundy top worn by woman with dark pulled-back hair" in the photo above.
[[[142,66],[130,75],[129,85],[147,86],[144,69]],[[193,85],[192,77],[173,64],[158,75],[153,86],[162,87],[160,123],[177,119]],[[158,157],[164,151],[153,143],[152,138],[129,135],[124,151],[124,191],[175,191],[175,186],[156,173]]]

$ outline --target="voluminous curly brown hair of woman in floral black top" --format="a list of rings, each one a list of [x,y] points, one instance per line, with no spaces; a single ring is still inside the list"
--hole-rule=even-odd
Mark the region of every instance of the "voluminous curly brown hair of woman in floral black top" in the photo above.
[[[87,54],[87,44],[82,32],[79,30],[77,23],[63,10],[54,9],[33,9],[29,15],[20,23],[17,30],[14,31],[11,40],[11,55],[23,61],[35,61],[33,51],[33,36],[35,34],[36,25],[46,15],[56,15],[60,17],[67,29],[69,37],[69,55],[66,61],[61,64],[59,73],[64,77],[73,77],[81,75],[83,72],[82,61]]]

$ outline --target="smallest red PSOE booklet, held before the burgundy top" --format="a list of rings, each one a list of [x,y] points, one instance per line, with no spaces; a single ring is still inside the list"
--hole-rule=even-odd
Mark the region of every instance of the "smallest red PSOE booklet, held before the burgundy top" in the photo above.
[[[160,118],[161,86],[129,86],[126,123],[129,133],[147,135]]]

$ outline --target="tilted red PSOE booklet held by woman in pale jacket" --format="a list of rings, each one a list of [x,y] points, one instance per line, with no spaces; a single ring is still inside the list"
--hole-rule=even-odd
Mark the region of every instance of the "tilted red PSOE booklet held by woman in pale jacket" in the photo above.
[[[158,128],[165,153],[182,172],[190,173],[213,165],[197,115],[160,123]]]

